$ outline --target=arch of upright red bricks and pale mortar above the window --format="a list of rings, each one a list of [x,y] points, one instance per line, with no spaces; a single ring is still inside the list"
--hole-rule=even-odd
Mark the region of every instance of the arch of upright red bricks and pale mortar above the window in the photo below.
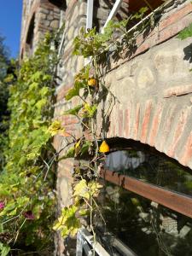
[[[191,108],[177,110],[177,103],[137,102],[117,105],[110,117],[107,137],[132,139],[166,154],[183,166],[192,167]]]

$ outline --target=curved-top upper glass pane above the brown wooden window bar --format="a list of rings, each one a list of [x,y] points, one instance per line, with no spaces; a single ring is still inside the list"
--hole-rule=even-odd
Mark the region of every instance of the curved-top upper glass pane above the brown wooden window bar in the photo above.
[[[144,182],[192,196],[192,172],[161,154],[122,150],[108,154],[104,167]]]

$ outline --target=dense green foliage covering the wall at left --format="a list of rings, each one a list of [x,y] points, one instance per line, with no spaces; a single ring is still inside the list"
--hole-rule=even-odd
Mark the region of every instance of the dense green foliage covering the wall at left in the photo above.
[[[53,41],[54,36],[46,35],[34,56],[21,63],[16,78],[9,79],[9,140],[0,174],[4,255],[7,247],[18,253],[32,249],[39,255],[48,255],[52,247],[55,152],[51,137],[61,130],[60,124],[51,125],[58,63],[56,48],[50,47]]]

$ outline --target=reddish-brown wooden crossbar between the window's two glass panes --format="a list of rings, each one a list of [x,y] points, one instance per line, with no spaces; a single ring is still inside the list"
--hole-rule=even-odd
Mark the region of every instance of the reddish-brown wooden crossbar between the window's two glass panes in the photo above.
[[[182,213],[192,218],[192,197],[178,194],[168,189],[145,183],[134,177],[128,177],[118,172],[110,170],[101,170],[100,177],[104,180],[119,185],[137,195],[142,195],[150,201],[154,201],[164,207],[168,207],[173,211]]]

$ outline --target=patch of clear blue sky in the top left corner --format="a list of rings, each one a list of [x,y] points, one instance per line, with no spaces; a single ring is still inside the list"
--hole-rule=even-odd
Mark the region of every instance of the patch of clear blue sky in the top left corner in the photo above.
[[[0,34],[12,57],[19,54],[22,0],[0,0]]]

